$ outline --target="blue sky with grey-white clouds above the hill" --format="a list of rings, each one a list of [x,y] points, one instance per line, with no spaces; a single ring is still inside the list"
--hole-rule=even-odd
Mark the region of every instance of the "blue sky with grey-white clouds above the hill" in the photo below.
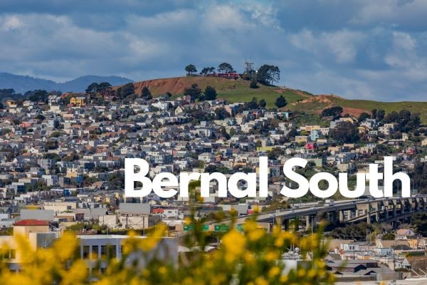
[[[0,72],[142,81],[250,58],[280,86],[427,100],[426,15],[425,0],[1,0]]]

